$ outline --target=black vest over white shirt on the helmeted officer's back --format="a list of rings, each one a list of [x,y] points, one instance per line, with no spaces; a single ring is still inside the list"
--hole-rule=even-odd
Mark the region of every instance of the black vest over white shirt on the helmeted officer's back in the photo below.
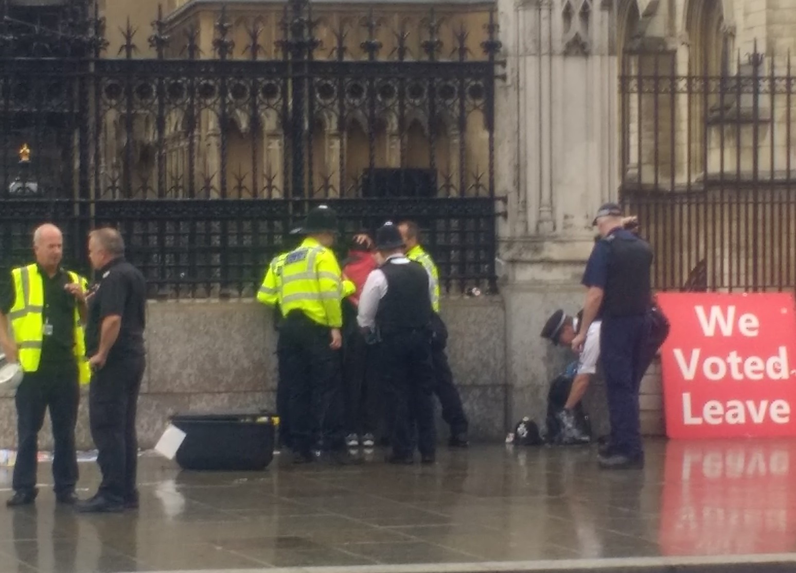
[[[382,333],[424,328],[431,322],[431,296],[428,275],[423,265],[410,261],[381,266],[387,278],[387,294],[379,303],[376,324]]]

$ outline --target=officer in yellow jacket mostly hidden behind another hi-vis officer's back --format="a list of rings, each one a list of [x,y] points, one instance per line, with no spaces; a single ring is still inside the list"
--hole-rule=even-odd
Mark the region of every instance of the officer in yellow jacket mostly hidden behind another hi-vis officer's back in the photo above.
[[[287,234],[287,237],[285,237],[287,249],[271,259],[271,262],[268,264],[268,270],[263,278],[263,285],[261,285],[257,291],[257,300],[260,303],[275,308],[274,328],[277,331],[279,331],[279,326],[282,322],[282,312],[279,311],[279,290],[282,286],[282,267],[285,264],[287,255],[298,246],[298,241],[301,237],[302,230],[300,227],[291,230],[291,232]],[[276,383],[276,414],[279,416],[279,449],[290,447],[291,436],[290,394],[288,394],[288,387],[283,372],[285,367],[283,352],[284,349],[277,343],[276,362],[278,365],[279,380]]]

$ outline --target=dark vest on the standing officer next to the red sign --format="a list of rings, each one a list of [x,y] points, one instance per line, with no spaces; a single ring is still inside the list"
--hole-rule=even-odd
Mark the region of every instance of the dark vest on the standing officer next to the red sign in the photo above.
[[[650,308],[650,245],[638,237],[611,235],[603,241],[611,245],[608,279],[601,316],[637,316]]]

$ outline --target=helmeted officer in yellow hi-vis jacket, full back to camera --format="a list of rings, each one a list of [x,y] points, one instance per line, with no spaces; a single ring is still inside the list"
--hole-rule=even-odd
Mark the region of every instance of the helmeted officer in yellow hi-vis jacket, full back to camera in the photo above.
[[[291,447],[296,463],[314,461],[322,437],[333,461],[345,463],[341,413],[344,285],[334,252],[338,217],[322,205],[307,214],[306,238],[285,257],[278,302],[279,347],[290,394]]]

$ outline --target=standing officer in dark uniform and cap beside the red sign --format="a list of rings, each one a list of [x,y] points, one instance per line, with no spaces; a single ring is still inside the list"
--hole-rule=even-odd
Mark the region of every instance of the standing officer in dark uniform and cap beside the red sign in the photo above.
[[[572,348],[582,351],[591,323],[603,321],[600,360],[606,376],[611,438],[599,464],[605,469],[640,468],[644,453],[638,387],[649,326],[653,253],[646,241],[622,228],[622,208],[616,203],[601,206],[594,224],[603,238],[595,244],[583,273],[586,304]]]

